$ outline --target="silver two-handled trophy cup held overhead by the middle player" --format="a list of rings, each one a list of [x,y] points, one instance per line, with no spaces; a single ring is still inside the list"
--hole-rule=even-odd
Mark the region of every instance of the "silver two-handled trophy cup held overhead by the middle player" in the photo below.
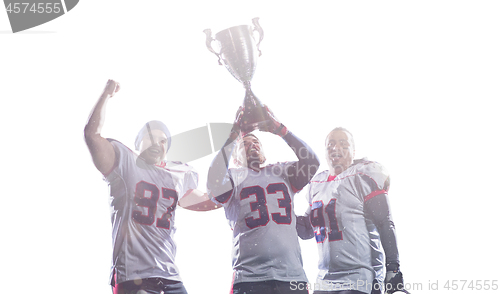
[[[222,65],[221,60],[224,61],[227,70],[245,87],[241,124],[243,131],[252,130],[257,124],[268,120],[267,111],[250,89],[250,81],[257,68],[257,58],[262,54],[259,45],[264,38],[259,18],[252,19],[252,23],[253,27],[240,25],[222,30],[215,34],[215,38],[212,38],[210,29],[203,31],[207,35],[207,48],[219,58],[219,65]],[[257,43],[254,37],[255,31],[259,33]],[[219,44],[220,53],[212,48],[213,41]]]

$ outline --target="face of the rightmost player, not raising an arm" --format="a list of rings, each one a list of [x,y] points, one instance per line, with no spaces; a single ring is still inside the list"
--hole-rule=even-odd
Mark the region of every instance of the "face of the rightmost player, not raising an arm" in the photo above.
[[[354,159],[354,142],[349,133],[333,131],[326,138],[325,156],[330,173],[336,175],[346,170]]]

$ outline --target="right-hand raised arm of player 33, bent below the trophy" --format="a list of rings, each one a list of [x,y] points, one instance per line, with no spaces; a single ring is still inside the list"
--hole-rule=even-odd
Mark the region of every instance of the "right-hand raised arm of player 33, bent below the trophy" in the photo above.
[[[265,125],[259,126],[259,129],[282,137],[288,146],[292,148],[299,161],[288,168],[287,175],[289,176],[293,188],[297,191],[301,190],[318,170],[318,156],[309,145],[288,131],[287,127],[276,119],[267,106],[266,109],[268,111],[269,121]]]

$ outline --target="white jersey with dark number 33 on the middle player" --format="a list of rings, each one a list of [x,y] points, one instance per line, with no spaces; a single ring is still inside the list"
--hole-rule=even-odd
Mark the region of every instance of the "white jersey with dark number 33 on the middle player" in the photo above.
[[[300,245],[293,213],[293,190],[286,176],[290,163],[229,169],[231,194],[214,198],[224,206],[233,230],[233,283],[303,281]]]

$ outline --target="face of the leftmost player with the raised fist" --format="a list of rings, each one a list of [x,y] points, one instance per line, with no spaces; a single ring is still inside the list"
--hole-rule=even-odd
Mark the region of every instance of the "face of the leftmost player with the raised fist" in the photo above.
[[[168,138],[165,133],[160,130],[151,130],[142,139],[140,157],[148,164],[160,163],[167,154],[167,143]]]

